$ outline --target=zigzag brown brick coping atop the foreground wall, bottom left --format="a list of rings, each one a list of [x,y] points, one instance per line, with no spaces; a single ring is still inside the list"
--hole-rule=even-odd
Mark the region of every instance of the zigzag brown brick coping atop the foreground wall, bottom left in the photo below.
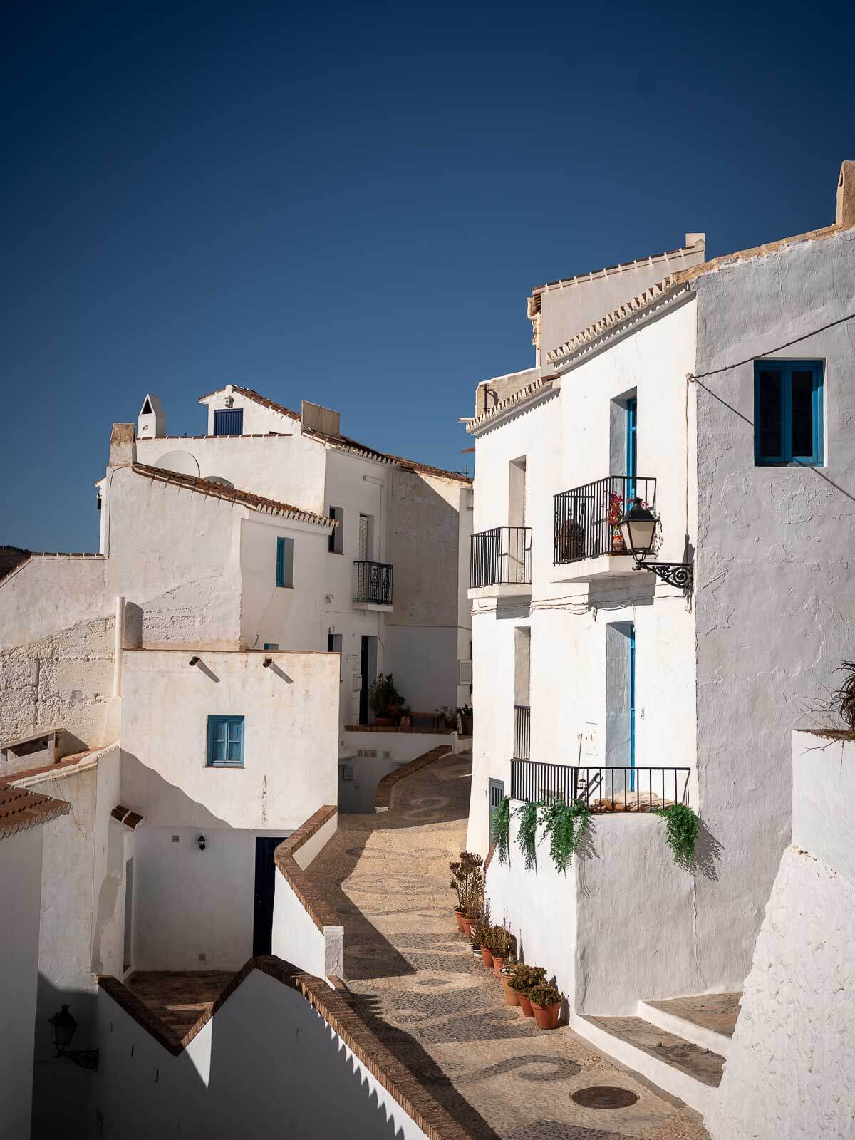
[[[336,990],[274,954],[251,958],[219,994],[210,1011],[203,1013],[182,1037],[117,978],[99,975],[98,985],[140,1028],[177,1057],[253,970],[260,970],[301,994],[430,1140],[467,1140],[469,1132],[383,1044]]]

